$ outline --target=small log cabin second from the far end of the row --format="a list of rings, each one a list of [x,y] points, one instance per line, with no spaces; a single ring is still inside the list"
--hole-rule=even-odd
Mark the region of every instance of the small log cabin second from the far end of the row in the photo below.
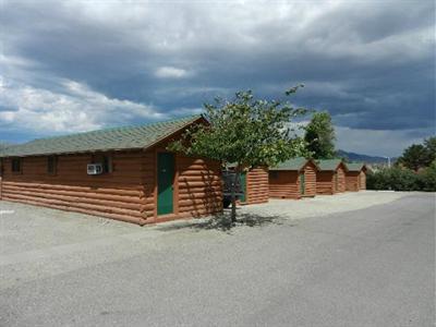
[[[317,162],[316,194],[346,192],[347,167],[341,159],[324,159]]]

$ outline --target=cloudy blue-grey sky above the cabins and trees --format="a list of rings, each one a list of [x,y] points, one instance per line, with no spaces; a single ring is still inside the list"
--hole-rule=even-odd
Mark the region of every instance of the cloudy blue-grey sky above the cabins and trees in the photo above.
[[[0,4],[0,140],[199,112],[240,89],[328,110],[338,147],[396,156],[435,133],[435,3]]]

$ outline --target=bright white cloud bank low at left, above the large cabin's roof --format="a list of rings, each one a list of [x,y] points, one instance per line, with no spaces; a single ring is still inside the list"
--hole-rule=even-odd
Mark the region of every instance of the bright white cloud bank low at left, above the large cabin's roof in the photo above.
[[[53,134],[165,118],[153,106],[109,98],[74,81],[62,81],[60,86],[64,92],[55,93],[0,76],[0,126]]]

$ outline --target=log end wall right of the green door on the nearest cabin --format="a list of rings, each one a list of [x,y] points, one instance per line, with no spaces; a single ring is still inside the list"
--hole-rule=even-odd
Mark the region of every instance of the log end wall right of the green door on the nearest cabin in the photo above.
[[[219,162],[179,156],[177,167],[179,217],[201,217],[222,210]]]

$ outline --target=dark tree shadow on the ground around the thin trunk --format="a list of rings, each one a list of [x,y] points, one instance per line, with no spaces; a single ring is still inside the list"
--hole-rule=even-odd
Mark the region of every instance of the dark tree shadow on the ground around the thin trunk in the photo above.
[[[233,228],[240,226],[247,227],[263,227],[267,225],[283,225],[283,217],[278,215],[266,216],[256,214],[237,214],[237,222],[231,223],[230,210],[225,210],[222,214],[215,215],[210,218],[193,219],[190,221],[177,221],[170,225],[158,226],[156,229],[159,231],[173,231],[180,229],[193,229],[193,230],[220,230],[230,232]]]

